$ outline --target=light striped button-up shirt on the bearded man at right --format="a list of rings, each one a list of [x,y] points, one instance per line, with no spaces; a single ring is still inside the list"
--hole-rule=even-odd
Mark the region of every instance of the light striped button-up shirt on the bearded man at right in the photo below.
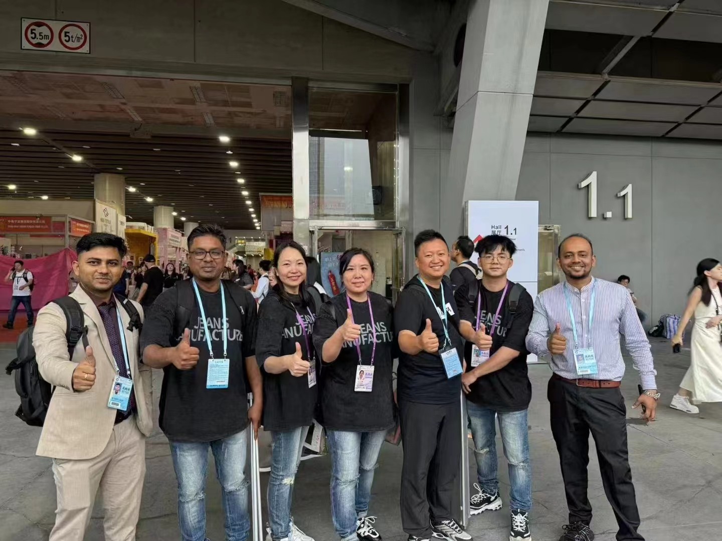
[[[589,304],[596,287],[594,312],[589,327]],[[565,296],[565,289],[568,296]],[[574,333],[567,308],[570,300],[577,326],[579,344],[575,346]],[[551,355],[547,347],[549,335],[554,333],[557,323],[567,339],[567,350],[563,355]],[[585,379],[613,379],[619,381],[625,375],[625,361],[619,345],[619,335],[625,336],[625,346],[640,373],[642,387],[656,389],[656,371],[650,351],[649,340],[632,303],[627,289],[617,283],[592,278],[591,283],[581,291],[566,281],[542,291],[534,302],[534,317],[531,320],[526,347],[536,356],[547,357],[554,374],[567,379],[577,379],[574,364],[574,348],[591,347],[594,350],[598,374],[584,376]]]

